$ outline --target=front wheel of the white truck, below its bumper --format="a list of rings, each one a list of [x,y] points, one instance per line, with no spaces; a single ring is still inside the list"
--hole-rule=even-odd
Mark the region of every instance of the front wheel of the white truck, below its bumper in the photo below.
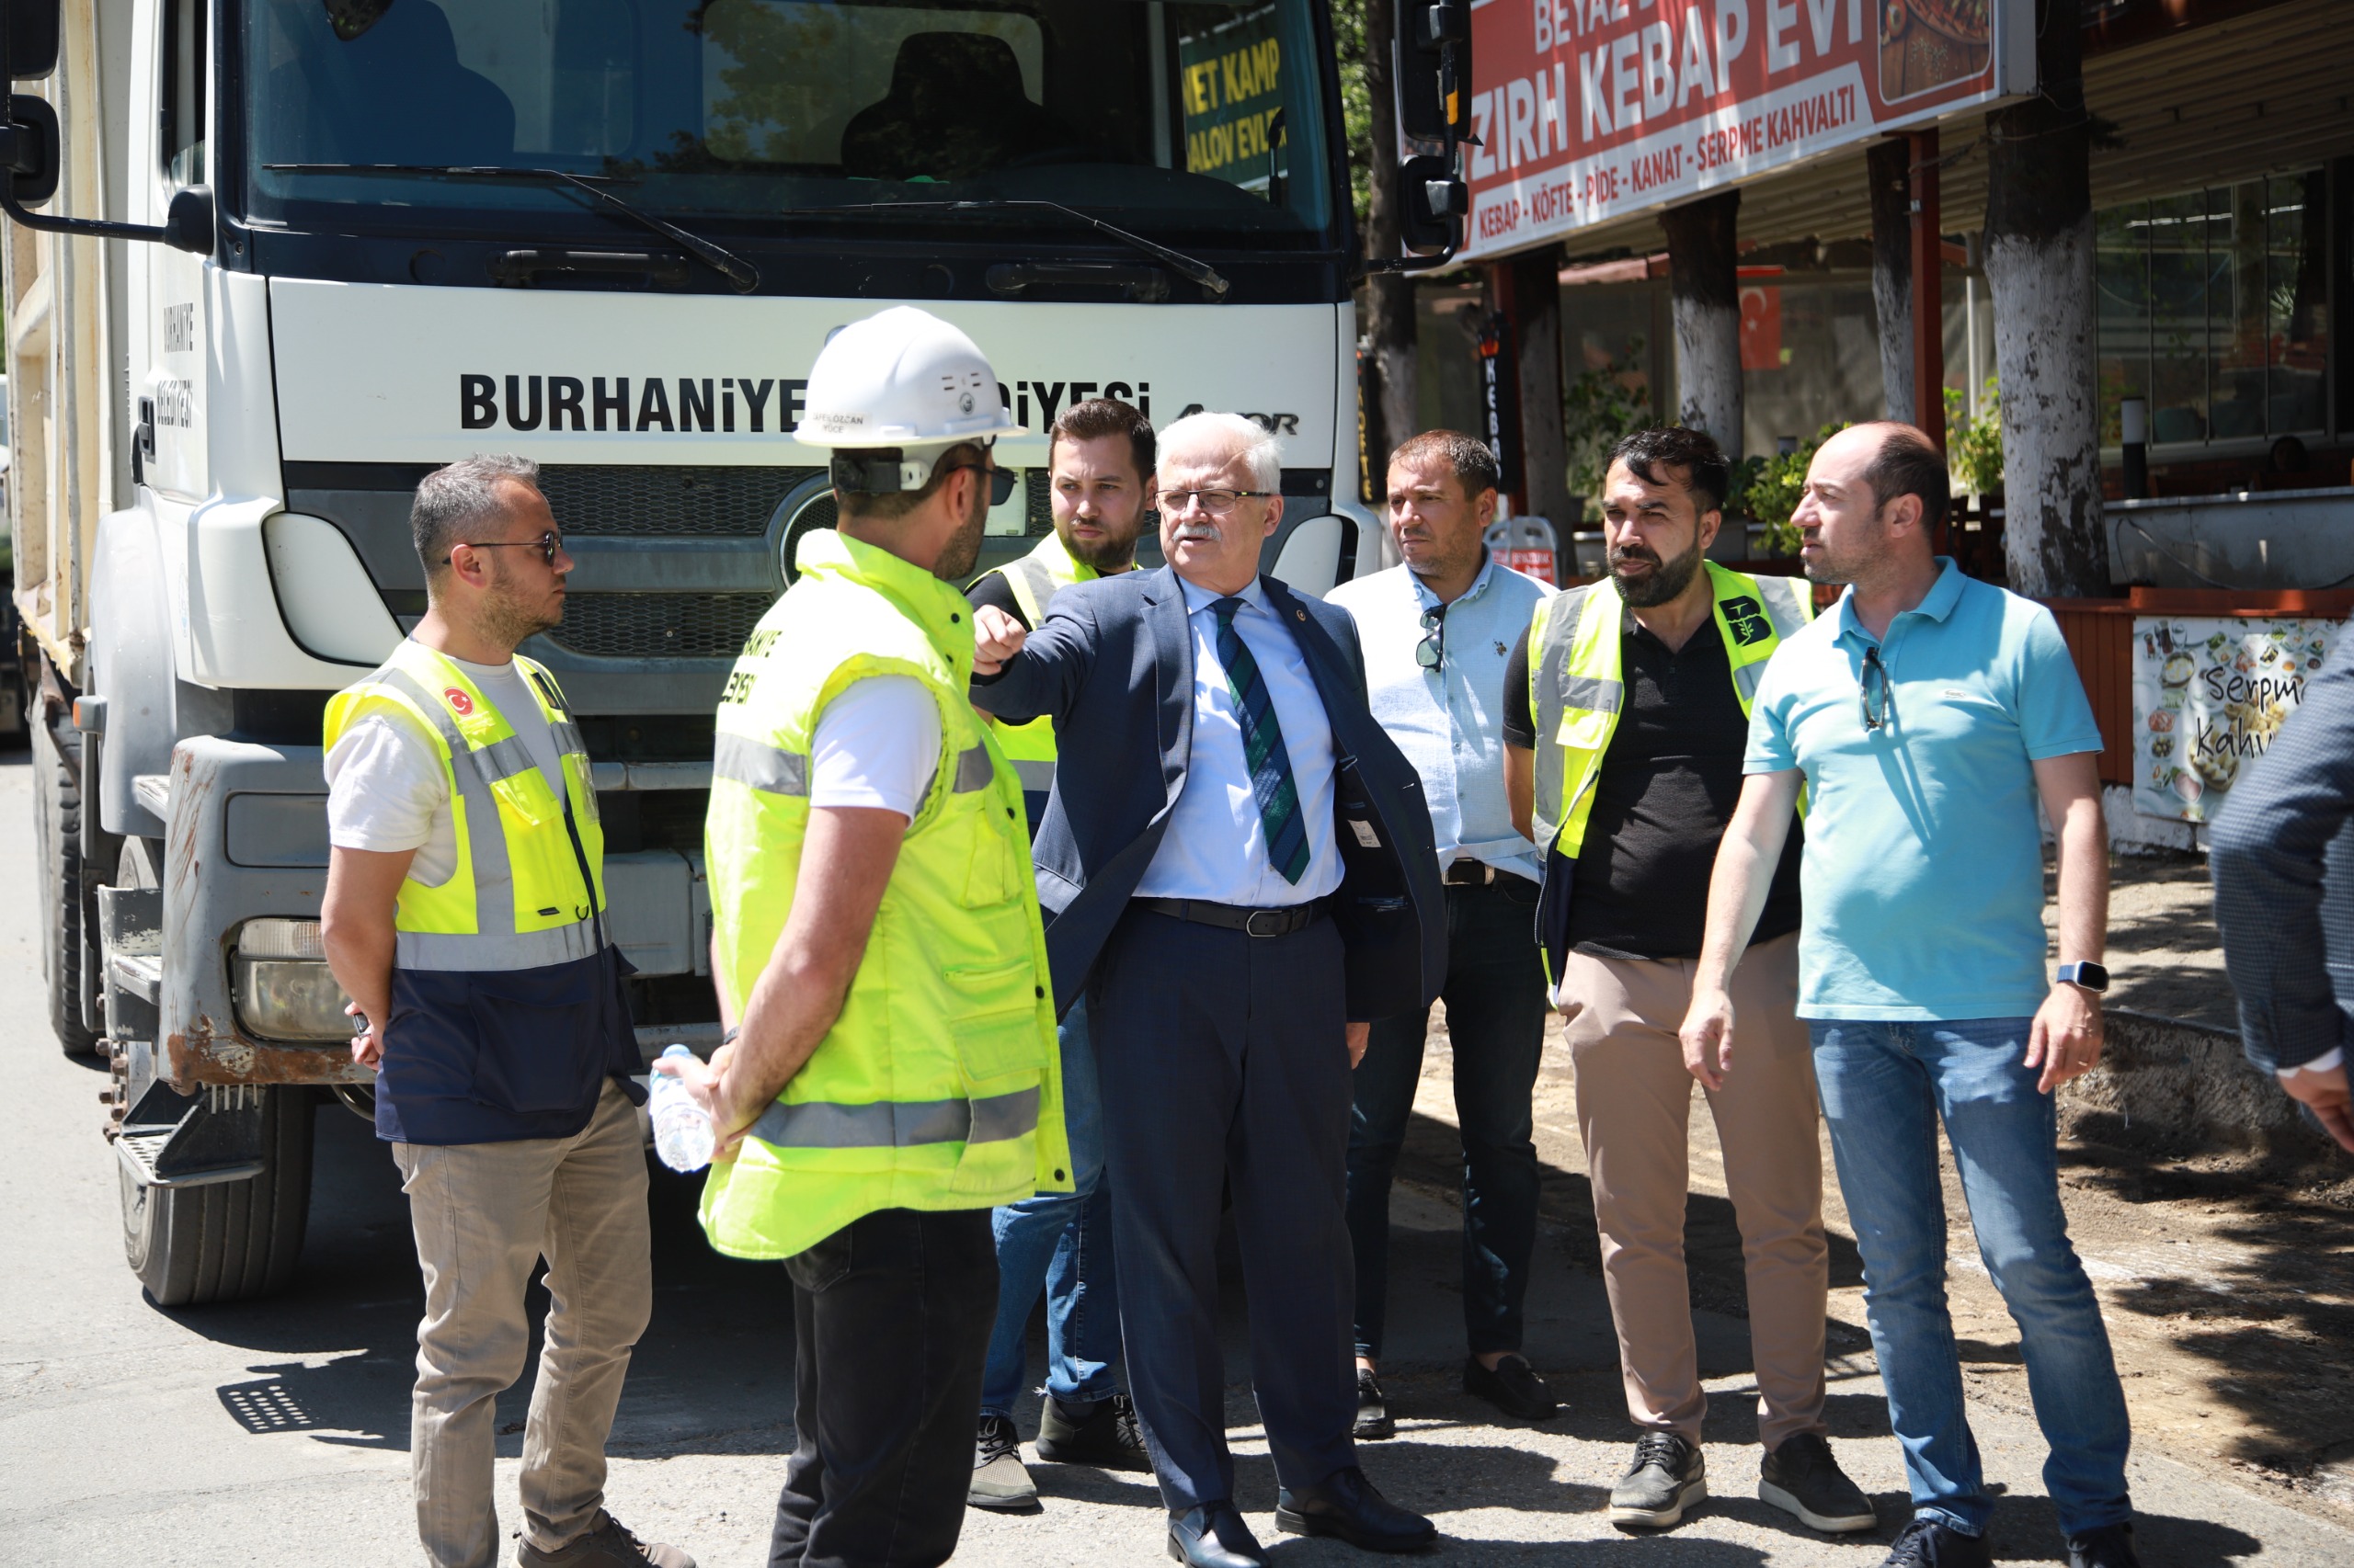
[[[158,1307],[207,1307],[285,1290],[311,1212],[311,1090],[271,1088],[261,1104],[261,1175],[207,1187],[148,1187],[118,1170],[122,1257]]]

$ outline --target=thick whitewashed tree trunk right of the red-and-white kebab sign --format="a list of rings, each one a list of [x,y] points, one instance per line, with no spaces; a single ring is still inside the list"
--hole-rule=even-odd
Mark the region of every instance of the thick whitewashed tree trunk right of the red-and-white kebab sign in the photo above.
[[[2029,596],[2109,593],[2100,516],[2093,137],[2083,40],[2036,40],[2041,92],[1987,122],[1987,285],[2003,393],[2003,553]]]

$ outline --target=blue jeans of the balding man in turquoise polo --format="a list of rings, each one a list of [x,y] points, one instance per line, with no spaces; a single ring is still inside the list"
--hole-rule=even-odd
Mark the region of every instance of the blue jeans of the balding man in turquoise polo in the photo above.
[[[2133,1516],[2126,1394],[2100,1302],[2067,1238],[2057,1114],[2053,1097],[2036,1092],[2036,1071],[2022,1064],[2029,1022],[1808,1024],[1914,1514],[1968,1535],[1984,1535],[1994,1504],[1963,1410],[1961,1356],[1944,1302],[1940,1118],[1961,1168],[1977,1255],[2020,1326],[2027,1391],[2050,1443],[2043,1486],[2060,1530],[2083,1535]]]

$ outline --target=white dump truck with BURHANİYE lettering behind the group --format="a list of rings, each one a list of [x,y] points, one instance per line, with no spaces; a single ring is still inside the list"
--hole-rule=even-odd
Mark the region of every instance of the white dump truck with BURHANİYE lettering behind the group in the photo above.
[[[320,713],[426,607],[410,492],[520,452],[647,1043],[711,1041],[711,713],[833,520],[826,334],[920,304],[1043,428],[1097,393],[1285,450],[1269,567],[1351,570],[1356,323],[1323,0],[0,0],[14,605],[52,1024],[113,1064],[132,1269],[278,1288],[322,1092]],[[1398,0],[1396,179],[1459,238],[1469,7]]]

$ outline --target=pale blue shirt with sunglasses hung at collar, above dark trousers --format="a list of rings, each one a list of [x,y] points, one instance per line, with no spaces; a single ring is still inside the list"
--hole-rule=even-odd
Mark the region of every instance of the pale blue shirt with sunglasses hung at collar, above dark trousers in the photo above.
[[[1325,596],[1356,617],[1372,718],[1422,775],[1441,869],[1483,859],[1542,881],[1537,845],[1511,826],[1504,800],[1504,666],[1537,603],[1551,596],[1535,577],[1488,558],[1471,589],[1448,605],[1438,669],[1415,664],[1427,636],[1422,614],[1438,607],[1438,596],[1408,567],[1344,582]]]

